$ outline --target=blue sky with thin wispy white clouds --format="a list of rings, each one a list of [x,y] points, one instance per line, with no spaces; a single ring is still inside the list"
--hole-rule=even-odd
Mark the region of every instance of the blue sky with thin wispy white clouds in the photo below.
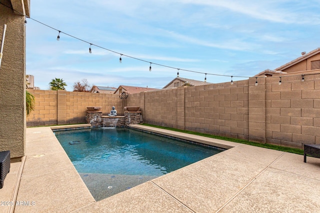
[[[30,0],[26,74],[40,89],[63,79],[67,91],[82,79],[160,89],[177,71],[252,77],[320,47],[319,11],[319,0]]]

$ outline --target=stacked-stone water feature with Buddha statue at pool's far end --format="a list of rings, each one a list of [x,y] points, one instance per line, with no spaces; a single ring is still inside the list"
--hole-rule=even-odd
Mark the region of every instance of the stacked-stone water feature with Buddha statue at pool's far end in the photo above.
[[[86,112],[86,123],[94,127],[123,127],[130,124],[139,124],[141,120],[140,107],[124,107],[127,111],[124,116],[116,115],[115,107],[107,116],[102,115],[102,111],[88,111]],[[101,107],[100,107],[101,109]]]

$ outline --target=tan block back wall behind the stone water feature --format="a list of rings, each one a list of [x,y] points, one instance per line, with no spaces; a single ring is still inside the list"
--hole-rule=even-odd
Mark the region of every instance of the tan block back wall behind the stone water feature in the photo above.
[[[102,115],[115,106],[118,115],[124,114],[122,101],[115,94],[67,92],[63,90],[28,90],[35,97],[35,110],[26,118],[30,126],[85,123],[86,107],[100,106]]]

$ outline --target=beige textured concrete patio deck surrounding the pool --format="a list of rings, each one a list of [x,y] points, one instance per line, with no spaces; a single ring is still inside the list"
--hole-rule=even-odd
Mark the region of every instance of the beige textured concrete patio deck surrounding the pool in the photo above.
[[[11,163],[0,189],[0,213],[320,212],[320,159],[132,127],[229,149],[95,202],[51,128],[27,128],[25,157]]]

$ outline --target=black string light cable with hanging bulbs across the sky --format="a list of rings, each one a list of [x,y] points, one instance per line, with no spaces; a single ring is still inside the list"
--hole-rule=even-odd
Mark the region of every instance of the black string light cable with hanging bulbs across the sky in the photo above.
[[[54,28],[54,27],[52,27],[52,26],[49,26],[49,25],[41,22],[41,21],[38,21],[38,20],[36,20],[36,19],[34,19],[34,18],[31,18],[31,17],[29,17],[29,16],[27,16],[27,15],[25,15],[25,14],[22,14],[21,12],[19,12],[19,11],[15,10],[15,9],[13,9],[13,8],[11,8],[11,7],[3,4],[2,2],[0,2],[0,4],[2,4],[2,5],[10,8],[10,9],[12,9],[13,11],[21,14],[21,15],[24,16],[25,18],[29,18],[29,19],[31,19],[31,20],[33,20],[33,21],[35,21],[35,22],[38,22],[38,23],[40,23],[40,24],[42,24],[42,25],[44,25],[44,26],[47,26],[47,27],[49,27],[49,28],[51,28],[51,29],[53,29],[53,30],[56,30],[56,31],[58,32],[57,40],[60,39],[60,34],[64,34],[64,35],[70,36],[70,37],[72,37],[72,38],[74,38],[74,39],[77,39],[77,40],[80,40],[80,41],[82,41],[82,42],[85,42],[85,43],[89,44],[89,45],[90,45],[90,47],[89,47],[89,52],[90,52],[90,53],[91,53],[91,46],[96,46],[96,47],[98,47],[98,48],[107,50],[107,51],[109,51],[109,52],[113,52],[113,53],[115,53],[115,54],[118,54],[118,55],[120,55],[120,58],[119,58],[119,62],[120,62],[120,63],[122,62],[122,56],[125,56],[125,57],[128,57],[128,58],[132,58],[132,59],[135,59],[135,60],[139,60],[139,61],[142,61],[142,62],[149,63],[149,64],[150,64],[150,66],[149,66],[149,71],[151,71],[151,64],[155,64],[155,65],[158,65],[158,66],[162,66],[162,67],[167,67],[167,68],[171,68],[171,69],[176,69],[176,70],[178,70],[178,72],[177,72],[177,77],[178,77],[178,75],[179,75],[179,71],[180,71],[180,70],[186,71],[186,72],[204,74],[204,75],[205,75],[205,82],[206,82],[206,75],[231,77],[231,82],[230,82],[231,85],[233,84],[233,80],[232,80],[233,77],[236,77],[236,78],[252,78],[252,76],[224,75],[224,74],[206,73],[206,72],[199,72],[199,71],[188,70],[188,69],[181,69],[181,68],[172,67],[172,66],[168,66],[168,65],[164,65],[164,64],[159,64],[159,63],[154,63],[154,62],[146,61],[146,60],[143,60],[143,59],[140,59],[140,58],[136,58],[136,57],[133,57],[133,56],[130,56],[130,55],[125,55],[125,54],[119,53],[119,52],[117,52],[117,51],[114,51],[114,50],[111,50],[111,49],[108,49],[108,48],[105,48],[105,47],[102,47],[102,46],[93,44],[93,43],[91,43],[91,42],[89,42],[89,41],[83,40],[83,39],[81,39],[81,38],[78,38],[78,37],[76,37],[76,36],[73,36],[73,35],[71,35],[71,34],[68,34],[68,33],[66,33],[66,32],[63,32],[63,31],[61,31],[61,30],[58,30],[58,29],[56,29],[56,28]],[[302,81],[304,81],[304,75],[307,75],[307,74],[302,74]],[[290,76],[293,76],[293,75],[290,75]],[[299,74],[299,76],[301,76],[301,74]],[[271,77],[273,77],[273,76],[271,76]],[[278,77],[278,76],[274,76],[274,77]],[[256,85],[257,85],[257,78],[265,78],[265,76],[258,76],[258,77],[255,77],[255,78],[256,78]],[[281,77],[280,77],[280,79],[281,79]],[[280,81],[280,82],[281,82],[281,81]]]

